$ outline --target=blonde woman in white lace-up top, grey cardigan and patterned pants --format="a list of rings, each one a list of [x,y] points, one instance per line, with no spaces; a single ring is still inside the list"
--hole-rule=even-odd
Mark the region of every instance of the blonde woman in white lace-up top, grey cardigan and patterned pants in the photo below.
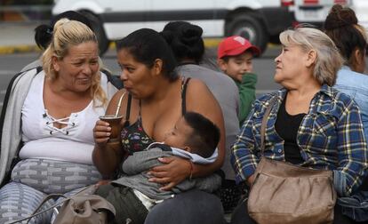
[[[12,85],[1,145],[0,223],[28,216],[46,194],[71,194],[100,180],[92,129],[113,88],[100,73],[97,39],[76,20],[61,19],[51,32],[43,71],[25,72]],[[30,223],[50,219],[45,212]]]

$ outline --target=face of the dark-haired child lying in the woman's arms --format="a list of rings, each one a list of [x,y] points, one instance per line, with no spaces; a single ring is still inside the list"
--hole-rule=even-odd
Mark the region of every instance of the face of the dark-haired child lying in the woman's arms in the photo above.
[[[191,136],[193,129],[187,124],[184,117],[176,122],[175,126],[170,132],[167,132],[164,136],[164,144],[181,148],[188,151],[188,139]]]

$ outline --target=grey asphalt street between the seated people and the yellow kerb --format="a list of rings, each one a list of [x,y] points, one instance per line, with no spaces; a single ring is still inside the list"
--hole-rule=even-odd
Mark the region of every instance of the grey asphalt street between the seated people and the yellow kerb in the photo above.
[[[273,76],[275,70],[274,59],[280,52],[279,46],[268,47],[261,58],[254,59],[254,72],[258,74],[257,95],[260,96],[265,92],[272,92],[279,88],[278,84],[274,83]],[[211,55],[212,63],[215,63],[215,49],[210,49],[208,52]],[[21,68],[28,63],[36,60],[40,56],[40,52],[34,53],[14,53],[0,55],[0,108],[3,107],[4,95],[6,87],[12,76],[17,74]],[[110,50],[107,52],[102,61],[106,68],[110,69],[113,74],[118,75],[120,68],[116,63],[116,52]]]

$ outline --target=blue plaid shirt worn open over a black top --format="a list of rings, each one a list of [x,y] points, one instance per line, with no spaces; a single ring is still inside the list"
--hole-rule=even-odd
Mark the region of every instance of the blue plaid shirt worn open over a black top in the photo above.
[[[269,101],[276,95],[277,102],[268,116],[264,155],[284,161],[284,140],[277,134],[275,123],[286,92],[287,90],[281,89],[255,100],[250,116],[245,120],[232,148],[231,162],[236,171],[237,182],[251,176],[260,161],[262,117]],[[368,166],[367,143],[359,108],[344,93],[328,85],[322,86],[300,124],[297,144],[304,160],[300,165],[333,170],[340,175],[339,179],[342,177],[344,188],[338,193],[350,195],[362,183]]]

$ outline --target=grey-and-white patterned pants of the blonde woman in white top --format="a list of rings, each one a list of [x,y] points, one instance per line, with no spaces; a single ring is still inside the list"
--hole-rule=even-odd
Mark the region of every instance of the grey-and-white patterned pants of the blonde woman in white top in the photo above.
[[[79,188],[95,184],[98,180],[100,173],[90,164],[22,160],[12,170],[12,182],[0,189],[0,223],[27,217],[47,194],[74,195]],[[53,200],[44,204],[43,208],[52,204]],[[29,223],[50,223],[51,216],[52,212],[45,212]]]

